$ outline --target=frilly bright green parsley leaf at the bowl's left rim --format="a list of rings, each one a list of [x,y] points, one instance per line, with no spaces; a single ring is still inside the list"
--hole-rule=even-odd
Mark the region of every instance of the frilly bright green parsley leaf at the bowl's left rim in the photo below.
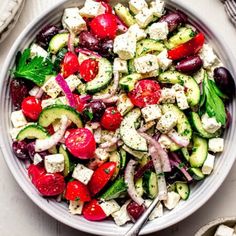
[[[48,59],[35,56],[30,58],[30,49],[27,48],[17,55],[16,69],[13,71],[15,77],[25,78],[42,86],[47,75],[54,74],[53,64]]]

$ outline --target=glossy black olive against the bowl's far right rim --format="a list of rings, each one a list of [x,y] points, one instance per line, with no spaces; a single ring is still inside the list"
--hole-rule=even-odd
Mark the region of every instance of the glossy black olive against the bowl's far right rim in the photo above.
[[[220,90],[232,97],[235,93],[235,82],[232,74],[225,67],[217,67],[213,76]]]

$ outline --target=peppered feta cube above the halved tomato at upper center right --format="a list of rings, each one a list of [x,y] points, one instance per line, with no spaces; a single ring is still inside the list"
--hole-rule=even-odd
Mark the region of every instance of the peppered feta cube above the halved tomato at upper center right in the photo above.
[[[134,66],[138,73],[148,73],[159,69],[157,56],[146,54],[145,56],[134,59]]]

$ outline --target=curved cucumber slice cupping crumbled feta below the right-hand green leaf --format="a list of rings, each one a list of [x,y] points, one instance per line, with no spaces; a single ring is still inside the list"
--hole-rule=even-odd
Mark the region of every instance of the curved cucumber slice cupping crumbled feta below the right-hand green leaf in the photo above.
[[[208,133],[202,126],[202,122],[200,119],[200,116],[196,112],[190,112],[190,121],[192,124],[192,127],[195,131],[197,131],[198,135],[200,135],[203,138],[216,138],[219,137],[222,133],[222,130],[219,129],[215,133],[211,134]]]

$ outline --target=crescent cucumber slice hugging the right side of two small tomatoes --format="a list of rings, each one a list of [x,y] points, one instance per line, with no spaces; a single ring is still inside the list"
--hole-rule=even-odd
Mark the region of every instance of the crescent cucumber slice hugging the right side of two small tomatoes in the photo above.
[[[112,65],[106,58],[97,59],[99,63],[99,71],[97,76],[86,84],[88,93],[96,93],[105,89],[112,80]]]

